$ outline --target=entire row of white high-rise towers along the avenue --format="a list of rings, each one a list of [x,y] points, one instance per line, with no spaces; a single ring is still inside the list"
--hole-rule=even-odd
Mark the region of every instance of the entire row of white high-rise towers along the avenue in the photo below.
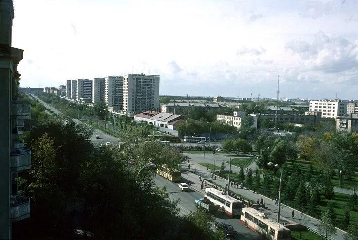
[[[125,112],[159,109],[159,75],[127,74],[66,81],[66,98],[97,103]]]

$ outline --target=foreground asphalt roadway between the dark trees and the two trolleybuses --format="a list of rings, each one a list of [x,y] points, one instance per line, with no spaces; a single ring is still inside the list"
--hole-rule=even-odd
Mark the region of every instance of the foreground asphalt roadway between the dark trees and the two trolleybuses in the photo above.
[[[190,189],[190,192],[182,192],[179,187],[178,183],[171,182],[159,175],[155,177],[155,184],[158,187],[166,186],[167,192],[170,193],[170,198],[177,200],[180,199],[179,202],[179,209],[180,209],[180,215],[189,214],[190,212],[196,211],[195,206],[195,200],[203,198],[203,194],[199,193],[195,190]],[[250,230],[249,228],[246,228],[244,224],[240,222],[239,219],[233,219],[230,216],[226,215],[225,213],[221,211],[217,211],[214,215],[216,221],[218,222],[227,222],[231,224],[236,231],[238,231],[238,236],[236,239],[240,240],[262,240],[261,236],[259,236],[254,231]]]

